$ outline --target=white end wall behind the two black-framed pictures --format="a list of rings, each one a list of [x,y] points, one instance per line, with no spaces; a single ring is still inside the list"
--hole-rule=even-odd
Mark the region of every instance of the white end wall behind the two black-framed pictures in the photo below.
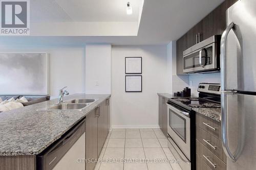
[[[112,46],[112,127],[159,127],[157,92],[168,89],[166,52],[166,45]],[[142,92],[125,92],[127,56],[142,57]]]

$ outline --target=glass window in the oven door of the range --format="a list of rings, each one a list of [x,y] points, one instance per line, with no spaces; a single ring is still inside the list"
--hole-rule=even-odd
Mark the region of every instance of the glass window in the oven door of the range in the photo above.
[[[186,143],[186,119],[170,109],[169,127]]]

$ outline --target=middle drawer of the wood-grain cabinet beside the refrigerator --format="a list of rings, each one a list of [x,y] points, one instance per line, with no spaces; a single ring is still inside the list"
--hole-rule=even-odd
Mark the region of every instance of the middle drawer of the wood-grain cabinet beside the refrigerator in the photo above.
[[[222,143],[218,138],[197,126],[197,140],[226,163],[227,157],[222,149]]]

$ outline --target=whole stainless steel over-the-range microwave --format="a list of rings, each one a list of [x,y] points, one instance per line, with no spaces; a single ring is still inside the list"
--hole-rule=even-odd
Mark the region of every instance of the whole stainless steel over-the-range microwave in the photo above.
[[[220,35],[207,38],[183,52],[183,72],[220,71]]]

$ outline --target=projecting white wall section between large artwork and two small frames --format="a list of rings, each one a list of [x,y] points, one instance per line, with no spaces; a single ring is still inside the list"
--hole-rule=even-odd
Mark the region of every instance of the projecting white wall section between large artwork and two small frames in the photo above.
[[[111,45],[86,45],[86,93],[111,94]]]

